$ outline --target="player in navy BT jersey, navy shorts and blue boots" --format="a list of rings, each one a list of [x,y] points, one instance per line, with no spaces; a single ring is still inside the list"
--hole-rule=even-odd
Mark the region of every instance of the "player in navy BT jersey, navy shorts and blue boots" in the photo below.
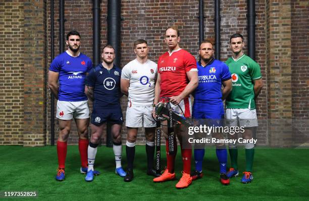
[[[102,63],[94,67],[86,77],[85,93],[93,100],[90,128],[91,138],[88,146],[88,172],[86,181],[92,181],[93,165],[97,146],[100,142],[102,131],[106,122],[112,123],[113,150],[116,161],[116,174],[126,176],[121,166],[121,128],[122,112],[120,105],[120,76],[121,69],[114,65],[115,49],[112,45],[103,47]]]

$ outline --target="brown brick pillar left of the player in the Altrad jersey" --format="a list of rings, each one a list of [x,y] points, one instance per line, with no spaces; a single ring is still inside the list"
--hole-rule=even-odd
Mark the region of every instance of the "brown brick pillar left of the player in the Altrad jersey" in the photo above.
[[[24,145],[44,145],[45,2],[25,2],[24,16]]]

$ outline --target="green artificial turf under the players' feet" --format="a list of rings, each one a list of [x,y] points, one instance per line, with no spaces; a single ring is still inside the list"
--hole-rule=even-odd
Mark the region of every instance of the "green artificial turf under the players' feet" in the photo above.
[[[219,182],[215,149],[207,149],[203,161],[204,177],[193,181],[186,189],[176,189],[177,180],[152,182],[153,177],[145,173],[145,146],[136,146],[134,180],[130,183],[115,174],[113,149],[106,146],[98,147],[95,169],[101,175],[95,176],[92,182],[85,182],[85,175],[79,172],[78,146],[68,146],[63,182],[55,180],[58,166],[56,146],[0,146],[0,152],[0,191],[36,191],[37,200],[309,200],[309,149],[256,149],[253,182],[242,184],[240,176],[232,178],[229,186]],[[239,149],[238,161],[239,171],[243,171],[244,149]],[[125,147],[122,164],[126,168]],[[166,164],[164,151],[162,164],[162,167]],[[178,149],[178,179],[181,169]]]

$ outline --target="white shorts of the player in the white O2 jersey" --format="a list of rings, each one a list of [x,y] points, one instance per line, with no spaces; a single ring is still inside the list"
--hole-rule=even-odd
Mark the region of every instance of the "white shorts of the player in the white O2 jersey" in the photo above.
[[[127,108],[126,126],[131,128],[138,127],[156,127],[157,123],[152,118],[153,107],[136,107],[131,106]]]

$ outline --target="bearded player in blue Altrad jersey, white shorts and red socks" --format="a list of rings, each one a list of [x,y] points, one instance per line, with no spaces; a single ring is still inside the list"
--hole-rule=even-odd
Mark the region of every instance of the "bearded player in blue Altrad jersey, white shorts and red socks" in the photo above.
[[[58,99],[57,115],[59,137],[57,141],[58,170],[56,180],[65,179],[67,141],[74,118],[79,136],[78,148],[81,159],[80,172],[87,173],[87,147],[89,108],[85,90],[85,76],[92,68],[92,61],[79,52],[80,34],[73,30],[67,34],[66,52],[58,55],[48,72],[48,87]],[[59,84],[58,84],[59,80]],[[95,171],[98,174],[97,171]]]

